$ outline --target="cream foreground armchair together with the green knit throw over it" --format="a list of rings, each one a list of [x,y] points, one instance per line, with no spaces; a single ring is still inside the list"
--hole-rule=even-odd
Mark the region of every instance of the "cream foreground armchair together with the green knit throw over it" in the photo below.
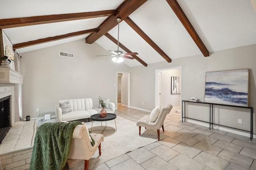
[[[30,170],[62,170],[68,158],[85,160],[86,170],[97,148],[101,154],[103,138],[102,134],[89,135],[86,125],[79,121],[44,123],[36,131]]]

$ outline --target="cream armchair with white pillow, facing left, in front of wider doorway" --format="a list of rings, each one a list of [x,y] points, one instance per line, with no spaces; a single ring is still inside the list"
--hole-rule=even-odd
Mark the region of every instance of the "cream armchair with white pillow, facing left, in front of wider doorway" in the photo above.
[[[155,108],[156,110],[158,109],[157,107]],[[148,129],[156,129],[157,130],[157,135],[158,135],[158,141],[160,140],[160,128],[162,127],[164,131],[164,119],[166,118],[166,115],[170,113],[172,110],[172,105],[168,104],[164,106],[160,111],[159,115],[156,115],[156,112],[154,111],[151,112],[150,115],[145,115],[141,119],[138,120],[137,126],[139,127],[139,135],[140,135],[140,129],[141,127],[145,127]],[[152,121],[152,114],[156,115],[156,120]],[[151,120],[150,120],[151,119]]]

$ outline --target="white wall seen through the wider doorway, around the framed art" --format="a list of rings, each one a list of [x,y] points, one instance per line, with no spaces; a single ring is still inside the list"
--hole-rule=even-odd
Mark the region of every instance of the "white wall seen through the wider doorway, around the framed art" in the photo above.
[[[180,78],[180,69],[161,71],[161,107],[167,104],[172,104],[173,107],[180,106],[179,94],[171,94],[171,76]]]

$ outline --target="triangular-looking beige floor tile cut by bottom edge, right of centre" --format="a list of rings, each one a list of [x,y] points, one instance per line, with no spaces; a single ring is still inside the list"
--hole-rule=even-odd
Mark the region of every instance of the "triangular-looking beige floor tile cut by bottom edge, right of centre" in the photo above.
[[[150,160],[147,160],[146,162],[143,162],[140,165],[146,170],[177,170],[178,169],[172,164],[163,160],[162,158],[159,158],[158,156],[155,156],[154,158],[151,158]]]

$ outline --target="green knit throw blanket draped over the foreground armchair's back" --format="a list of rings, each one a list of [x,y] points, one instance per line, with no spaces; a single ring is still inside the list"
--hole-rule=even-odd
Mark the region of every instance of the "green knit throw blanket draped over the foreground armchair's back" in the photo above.
[[[79,121],[44,123],[36,131],[30,170],[62,170],[70,153],[72,135]]]

